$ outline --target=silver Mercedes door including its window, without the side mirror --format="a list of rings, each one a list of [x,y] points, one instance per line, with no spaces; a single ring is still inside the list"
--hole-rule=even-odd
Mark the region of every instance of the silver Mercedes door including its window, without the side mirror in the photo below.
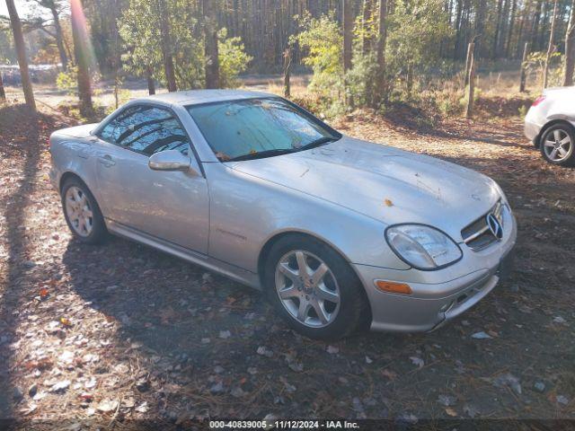
[[[97,183],[104,216],[192,251],[208,253],[208,182],[172,110],[130,105],[96,134]],[[149,156],[190,156],[190,171],[153,171]]]

